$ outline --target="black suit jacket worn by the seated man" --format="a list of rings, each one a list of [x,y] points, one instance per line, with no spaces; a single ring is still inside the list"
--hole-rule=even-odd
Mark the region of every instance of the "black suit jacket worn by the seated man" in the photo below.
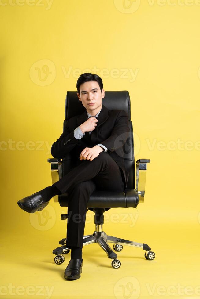
[[[91,135],[85,132],[83,138],[76,139],[74,137],[74,130],[85,122],[87,118],[87,111],[85,110],[81,115],[76,115],[65,121],[63,133],[51,147],[52,156],[62,159],[67,153],[73,150],[75,157],[80,160],[80,153],[85,147],[93,147],[101,143],[107,147],[107,153],[120,166],[126,189],[129,172],[124,167],[124,153],[122,148],[129,134],[126,112],[117,109],[108,110],[102,104],[102,109],[97,117],[97,126],[91,132]]]

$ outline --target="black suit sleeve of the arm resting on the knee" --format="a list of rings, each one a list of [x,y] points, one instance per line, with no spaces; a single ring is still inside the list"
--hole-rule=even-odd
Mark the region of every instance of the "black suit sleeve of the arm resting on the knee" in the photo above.
[[[111,135],[101,144],[107,147],[108,153],[114,152],[125,144],[129,131],[128,116],[124,110],[120,110]]]

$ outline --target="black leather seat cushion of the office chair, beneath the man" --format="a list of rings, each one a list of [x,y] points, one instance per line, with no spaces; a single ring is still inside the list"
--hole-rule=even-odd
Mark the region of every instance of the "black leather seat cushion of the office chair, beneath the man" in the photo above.
[[[58,196],[61,207],[68,207],[67,192]],[[88,208],[136,208],[139,203],[137,190],[124,192],[94,191],[87,202]]]

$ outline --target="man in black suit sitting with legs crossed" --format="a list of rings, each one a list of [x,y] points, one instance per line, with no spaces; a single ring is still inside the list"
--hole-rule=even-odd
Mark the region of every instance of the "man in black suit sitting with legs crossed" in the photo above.
[[[80,278],[82,272],[85,216],[91,193],[124,191],[129,175],[124,168],[122,148],[129,133],[127,114],[124,110],[108,110],[102,104],[105,91],[98,75],[80,75],[76,87],[86,110],[65,121],[63,133],[51,147],[54,158],[73,153],[76,167],[52,186],[17,202],[24,211],[34,213],[46,207],[53,196],[67,192],[70,218],[66,246],[71,249],[71,259],[64,277],[68,280]],[[75,215],[79,216],[78,221]]]

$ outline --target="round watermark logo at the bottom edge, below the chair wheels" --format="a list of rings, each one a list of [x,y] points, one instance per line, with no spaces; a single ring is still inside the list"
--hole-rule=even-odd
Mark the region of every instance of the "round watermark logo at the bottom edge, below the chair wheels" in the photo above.
[[[140,284],[133,276],[123,277],[114,286],[114,295],[117,299],[137,299],[140,295]]]

